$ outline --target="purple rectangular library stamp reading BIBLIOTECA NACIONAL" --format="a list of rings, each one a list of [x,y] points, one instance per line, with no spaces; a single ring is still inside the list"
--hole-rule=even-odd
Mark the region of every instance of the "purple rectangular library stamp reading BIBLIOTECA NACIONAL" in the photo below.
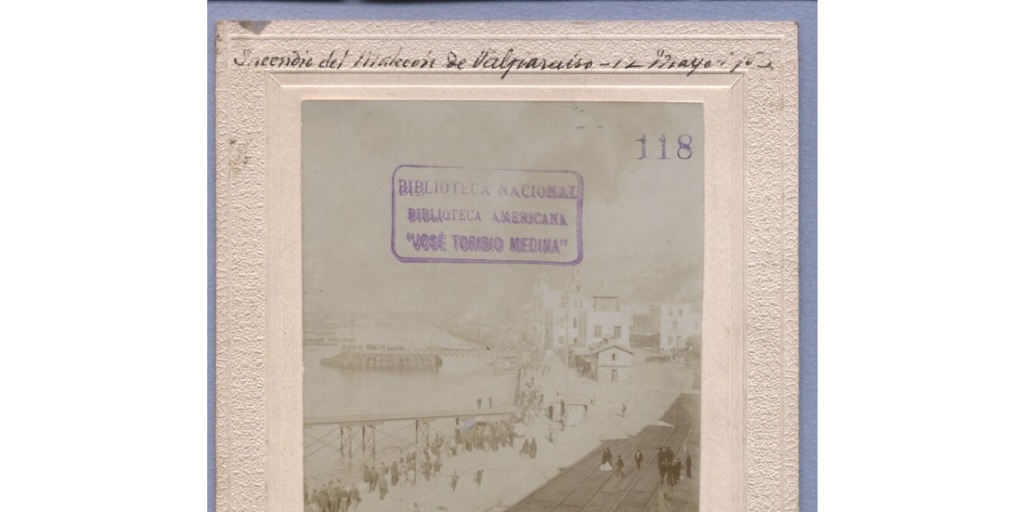
[[[391,252],[403,262],[574,265],[583,260],[583,176],[398,166]]]

